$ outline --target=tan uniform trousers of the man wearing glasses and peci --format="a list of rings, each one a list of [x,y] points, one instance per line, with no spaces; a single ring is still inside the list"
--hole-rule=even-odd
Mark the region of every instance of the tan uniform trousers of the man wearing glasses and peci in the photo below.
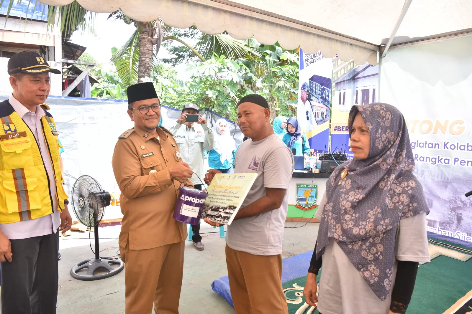
[[[120,247],[125,263],[126,314],[178,314],[185,242],[146,250]]]

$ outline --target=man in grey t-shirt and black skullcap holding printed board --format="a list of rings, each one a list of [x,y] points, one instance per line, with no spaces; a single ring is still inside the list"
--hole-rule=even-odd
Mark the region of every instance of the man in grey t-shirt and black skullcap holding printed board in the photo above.
[[[273,132],[266,99],[243,97],[237,116],[248,140],[236,152],[235,173],[258,176],[228,226],[226,264],[231,297],[237,314],[287,314],[281,253],[294,159]],[[207,184],[216,173],[219,171],[209,170]],[[219,226],[207,218],[205,222]]]

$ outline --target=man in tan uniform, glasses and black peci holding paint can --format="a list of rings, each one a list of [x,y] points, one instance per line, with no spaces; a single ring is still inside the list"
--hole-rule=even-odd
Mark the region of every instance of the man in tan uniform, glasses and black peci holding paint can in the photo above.
[[[172,219],[180,183],[193,186],[172,134],[158,127],[152,83],[127,89],[135,127],[119,137],[112,165],[121,190],[119,235],[125,263],[126,314],[177,314],[184,268],[185,223]]]

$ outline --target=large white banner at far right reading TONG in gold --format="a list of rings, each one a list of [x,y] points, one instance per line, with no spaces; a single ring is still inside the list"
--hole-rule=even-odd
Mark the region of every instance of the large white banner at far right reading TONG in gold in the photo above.
[[[472,37],[388,51],[381,102],[407,121],[428,231],[472,242]]]

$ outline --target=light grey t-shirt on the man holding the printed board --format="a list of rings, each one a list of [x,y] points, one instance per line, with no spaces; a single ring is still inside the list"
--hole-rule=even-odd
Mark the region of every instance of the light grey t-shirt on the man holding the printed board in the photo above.
[[[282,206],[266,213],[235,220],[228,226],[226,243],[232,249],[253,255],[282,253],[288,185],[292,179],[294,158],[276,134],[263,140],[244,141],[235,157],[235,174],[257,173],[241,208],[266,196],[266,188],[287,189]]]

